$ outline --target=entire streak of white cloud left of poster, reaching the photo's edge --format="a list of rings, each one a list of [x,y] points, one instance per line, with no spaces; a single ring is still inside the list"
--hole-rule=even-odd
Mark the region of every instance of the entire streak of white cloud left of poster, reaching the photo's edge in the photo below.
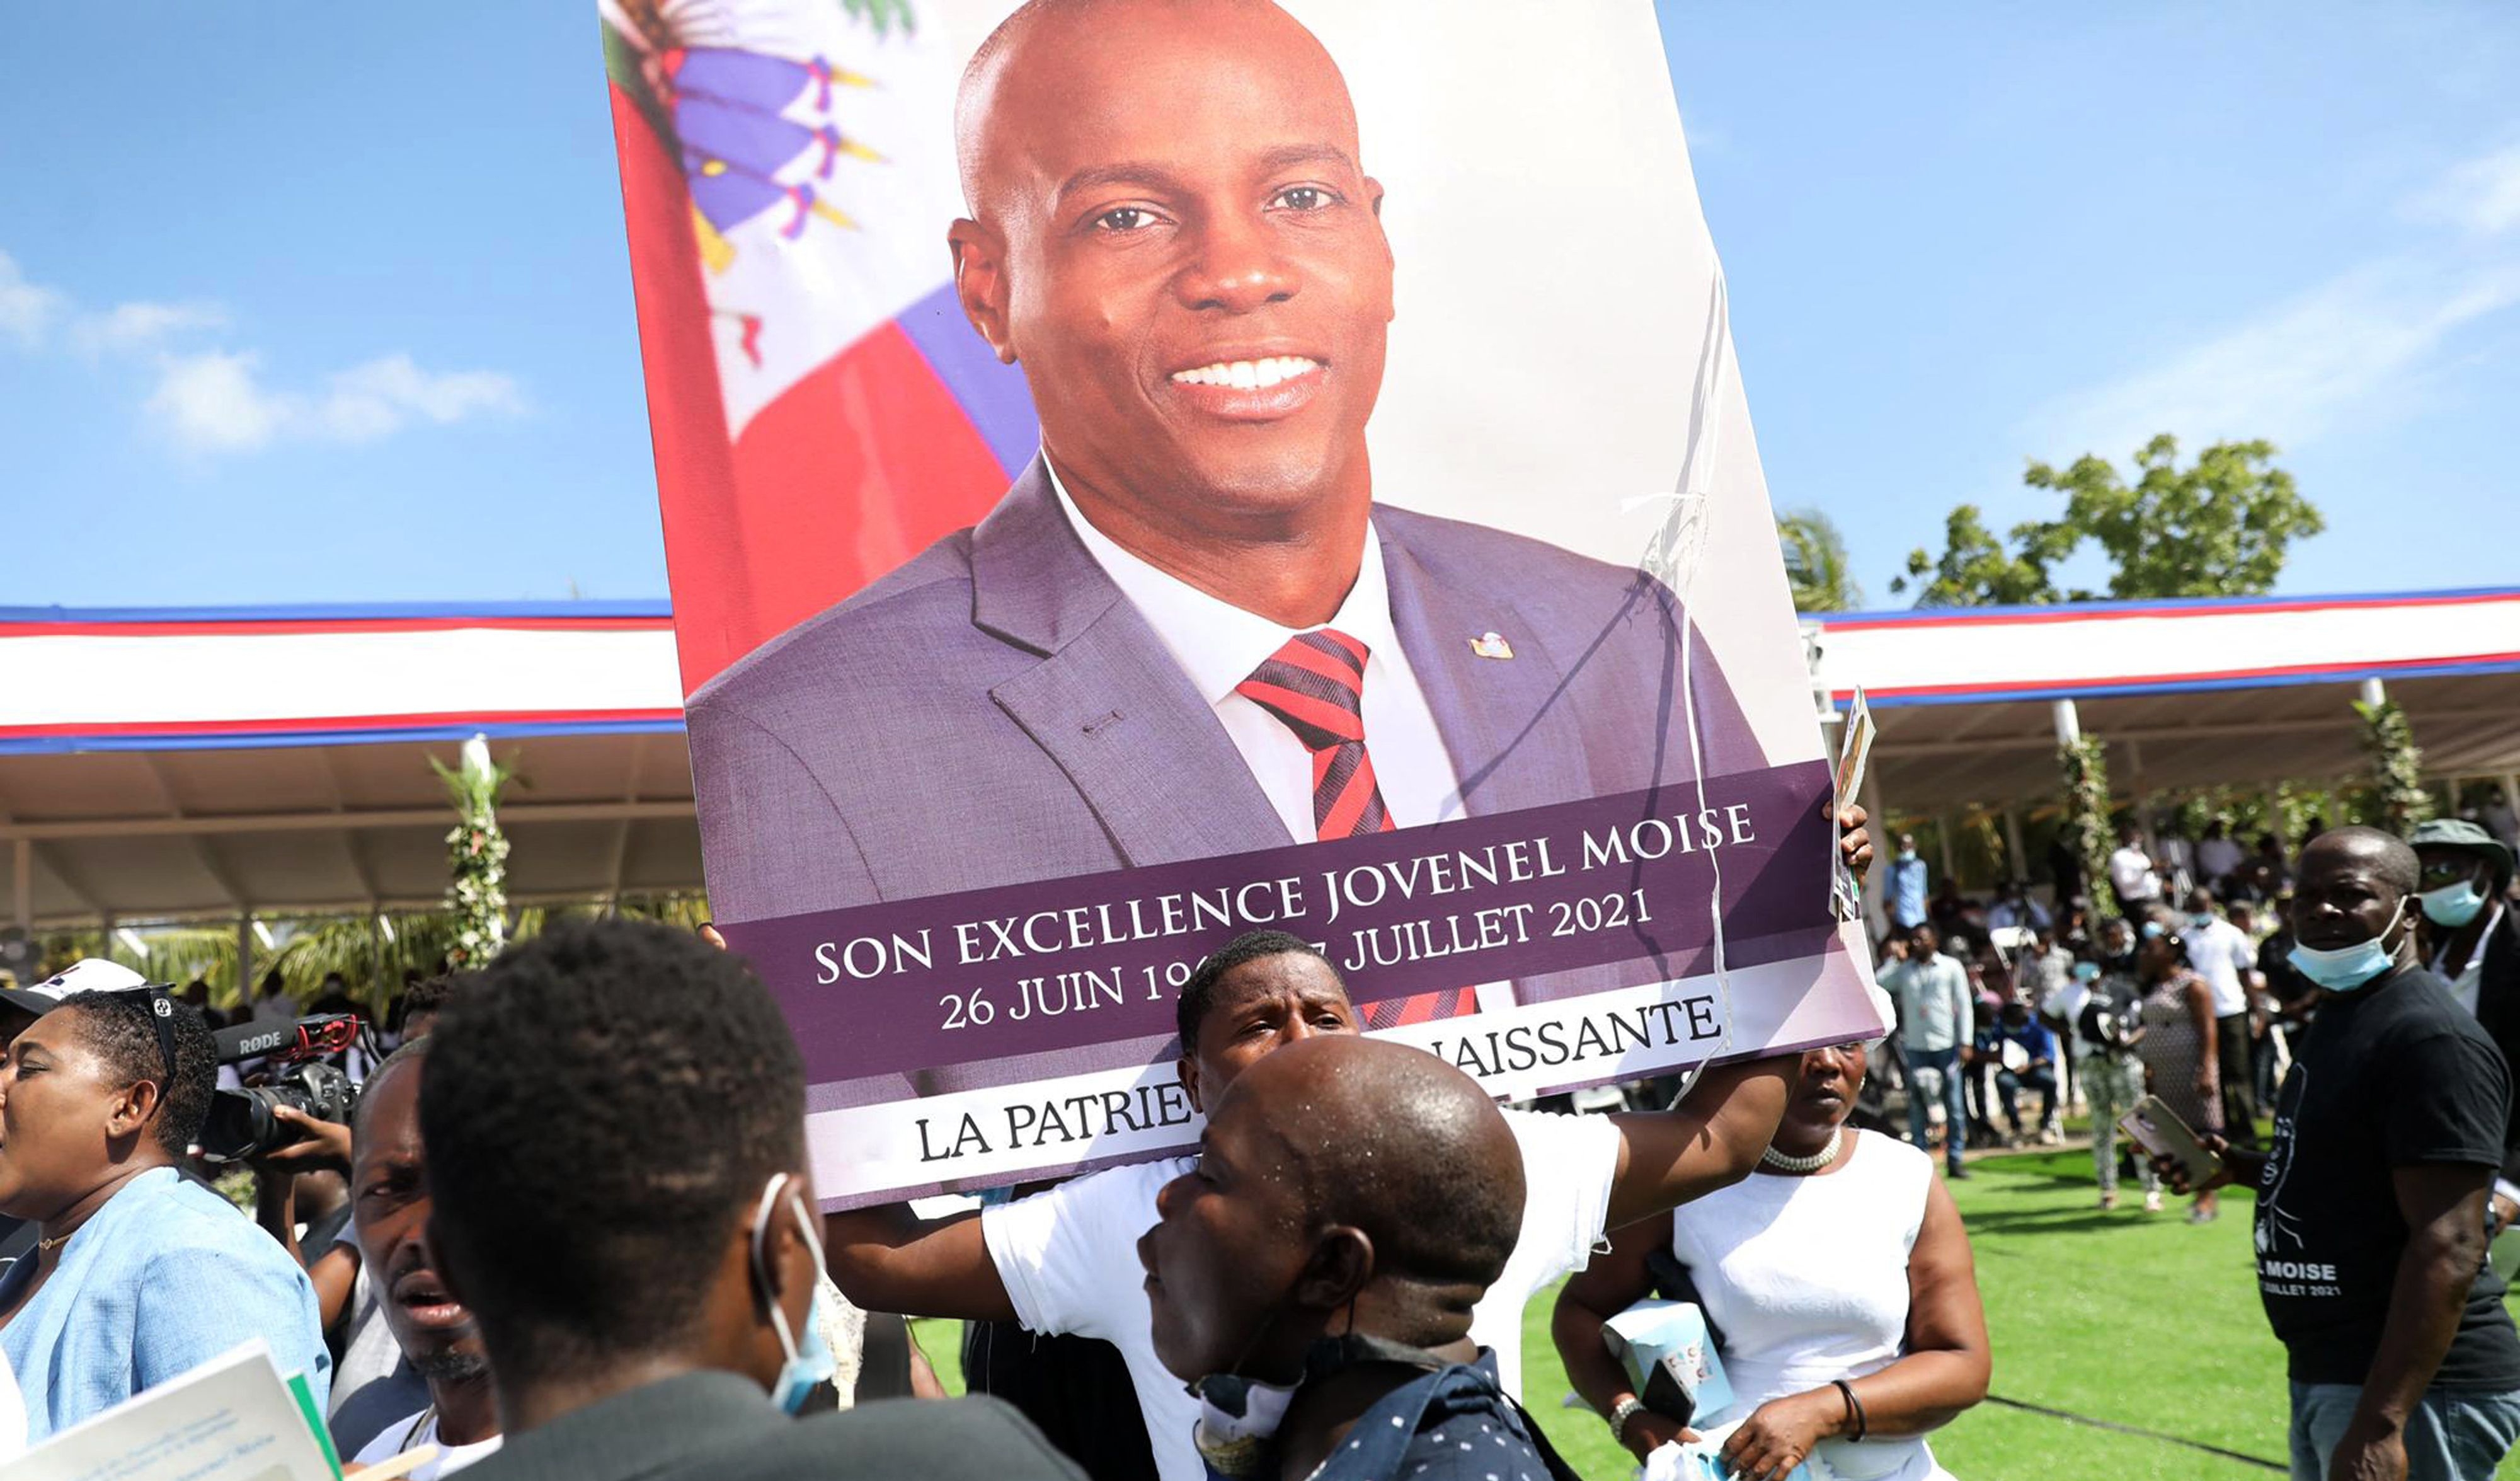
[[[227,310],[214,302],[134,300],[83,310],[58,287],[30,282],[18,259],[0,252],[0,340],[43,350],[58,327],[71,353],[91,363],[154,365],[156,385],[141,416],[186,453],[249,453],[277,441],[365,443],[408,426],[527,408],[512,375],[423,370],[411,355],[378,355],[292,390],[262,380],[255,350],[169,348],[181,335],[227,325]]]

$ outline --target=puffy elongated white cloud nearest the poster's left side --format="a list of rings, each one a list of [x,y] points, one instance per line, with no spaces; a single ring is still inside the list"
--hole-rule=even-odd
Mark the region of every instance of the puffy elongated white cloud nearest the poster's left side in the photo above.
[[[161,355],[149,421],[189,453],[247,453],[275,441],[365,443],[413,421],[449,426],[471,416],[517,416],[524,395],[494,370],[421,370],[386,355],[333,375],[320,393],[262,383],[260,355],[207,350]]]

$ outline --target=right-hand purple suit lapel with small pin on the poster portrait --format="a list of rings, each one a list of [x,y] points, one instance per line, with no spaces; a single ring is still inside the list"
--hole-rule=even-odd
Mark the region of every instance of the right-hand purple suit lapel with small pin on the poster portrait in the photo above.
[[[1583,723],[1565,690],[1560,655],[1535,622],[1502,597],[1472,597],[1436,582],[1381,521],[1391,627],[1416,672],[1434,728],[1462,781],[1462,806],[1502,814],[1593,796]],[[1504,637],[1515,657],[1479,657],[1469,642]]]

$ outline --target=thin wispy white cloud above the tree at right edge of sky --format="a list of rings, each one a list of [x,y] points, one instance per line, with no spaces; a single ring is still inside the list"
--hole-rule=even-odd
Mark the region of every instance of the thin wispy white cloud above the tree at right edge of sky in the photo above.
[[[2061,395],[2024,436],[2046,456],[2119,458],[2152,433],[2190,443],[2301,446],[2424,406],[2460,330],[2520,305],[2520,146],[2452,166],[2409,217],[2457,232],[2366,262],[2190,343],[2165,360]]]

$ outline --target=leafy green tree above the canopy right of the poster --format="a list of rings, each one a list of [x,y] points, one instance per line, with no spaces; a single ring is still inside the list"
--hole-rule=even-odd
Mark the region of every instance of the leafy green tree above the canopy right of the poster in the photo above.
[[[2064,468],[2031,461],[2021,481],[2064,494],[2056,519],[2031,519],[1996,536],[1976,504],[1961,504],[1943,526],[1940,559],[1915,549],[1908,577],[1890,589],[1915,582],[1918,607],[2271,592],[2291,544],[2326,529],[2318,506],[2273,458],[2268,441],[2215,443],[2180,468],[2180,441],[2162,433],[2137,448],[2132,484],[2092,453]],[[2051,572],[2084,542],[2109,557],[2109,589],[2059,592]]]

